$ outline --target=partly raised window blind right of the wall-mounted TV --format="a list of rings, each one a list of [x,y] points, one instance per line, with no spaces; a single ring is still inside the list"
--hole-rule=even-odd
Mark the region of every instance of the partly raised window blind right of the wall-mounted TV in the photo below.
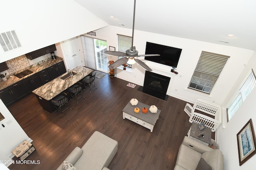
[[[210,94],[229,56],[202,51],[188,88]]]

